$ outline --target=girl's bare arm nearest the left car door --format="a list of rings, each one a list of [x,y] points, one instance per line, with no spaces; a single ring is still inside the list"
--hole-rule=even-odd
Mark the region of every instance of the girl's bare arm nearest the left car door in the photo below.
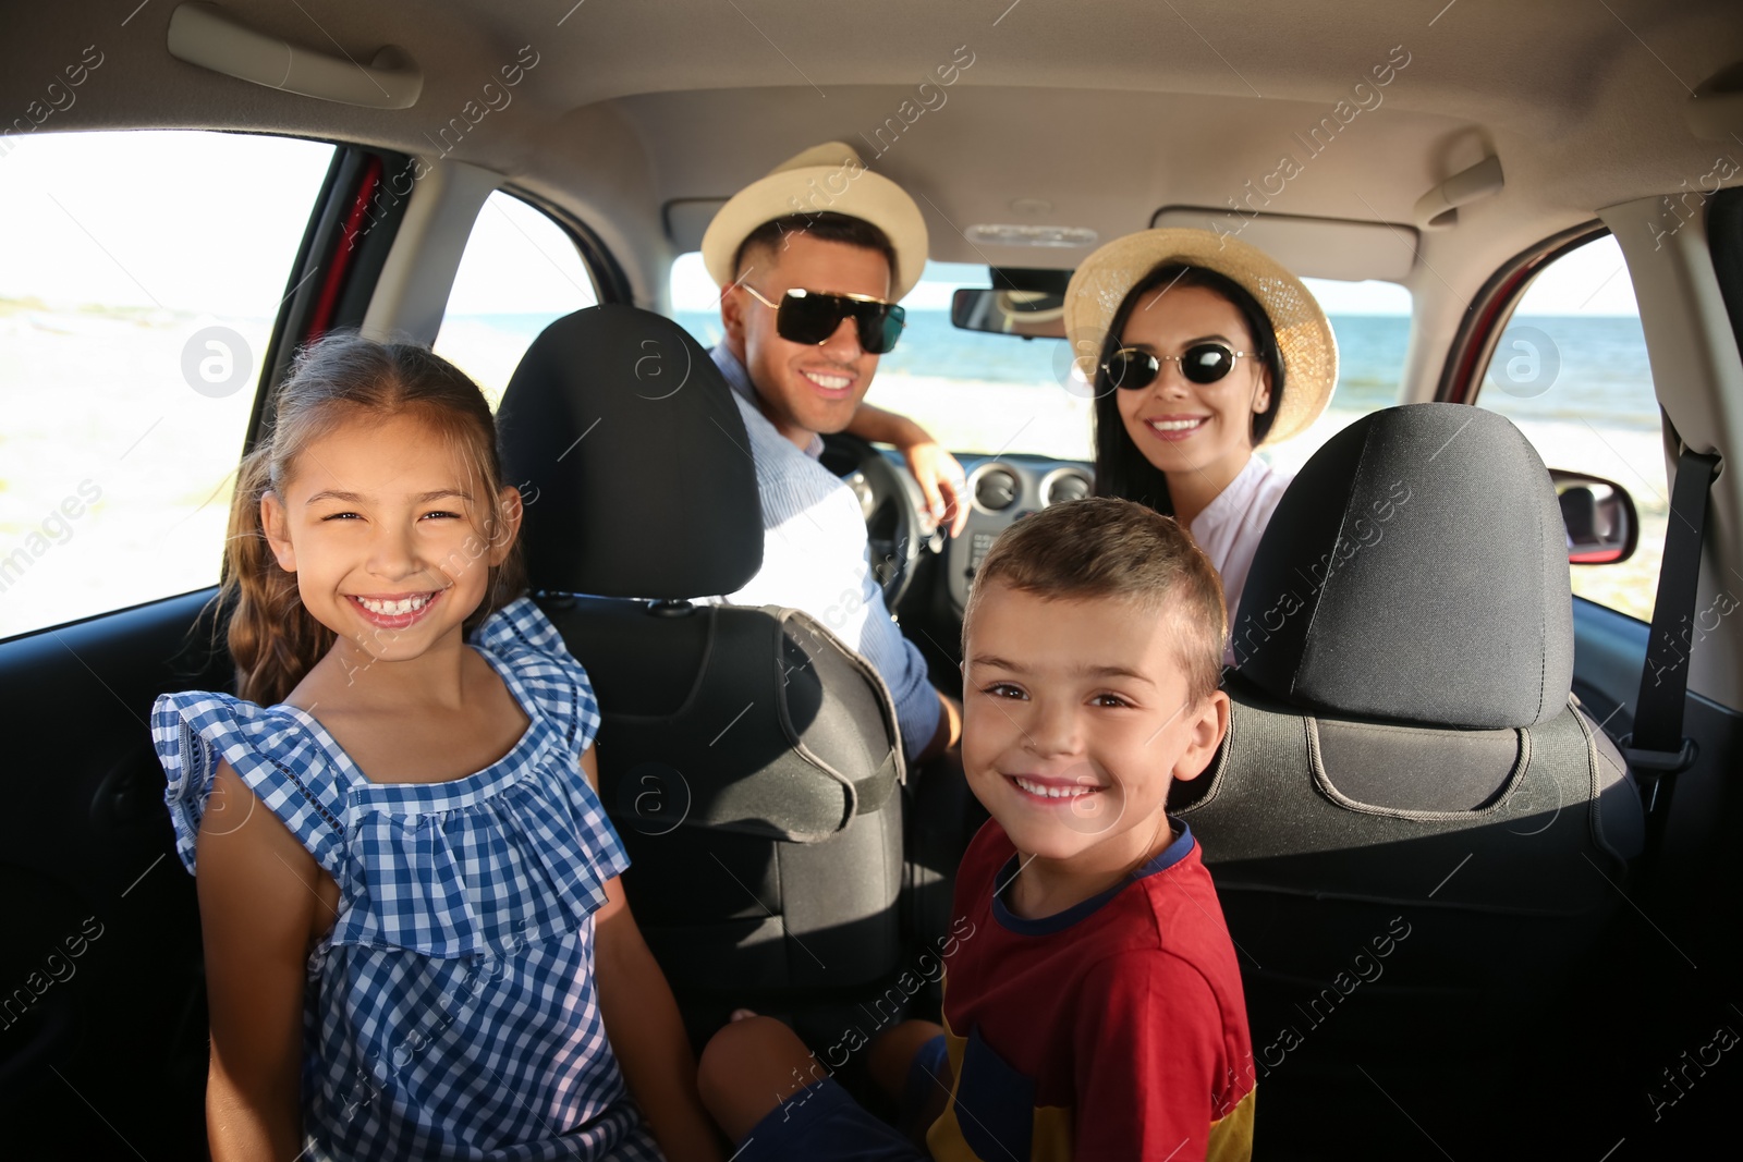
[[[228,763],[218,765],[193,862],[213,1038],[211,1157],[291,1162],[303,1150],[303,970],[317,913],[331,923],[321,897],[331,878]]]

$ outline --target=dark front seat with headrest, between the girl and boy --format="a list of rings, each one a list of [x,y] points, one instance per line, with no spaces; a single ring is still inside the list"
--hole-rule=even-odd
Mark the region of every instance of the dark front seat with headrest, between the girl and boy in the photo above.
[[[692,603],[762,566],[725,378],[678,324],[593,307],[526,350],[498,425],[532,587],[600,699],[626,895],[692,1037],[732,1005],[858,1000],[903,949],[896,716],[809,615]]]

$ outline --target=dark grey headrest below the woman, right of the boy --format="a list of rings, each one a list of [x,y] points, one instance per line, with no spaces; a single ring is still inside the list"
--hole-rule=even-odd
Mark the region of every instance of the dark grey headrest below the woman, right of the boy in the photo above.
[[[1278,503],[1232,646],[1245,679],[1314,713],[1490,728],[1555,716],[1574,613],[1537,451],[1466,404],[1356,420]]]

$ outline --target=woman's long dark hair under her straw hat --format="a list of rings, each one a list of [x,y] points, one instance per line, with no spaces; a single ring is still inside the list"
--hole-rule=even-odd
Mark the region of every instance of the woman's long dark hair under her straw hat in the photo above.
[[[1208,270],[1204,267],[1187,267],[1183,263],[1163,263],[1138,280],[1114,312],[1114,321],[1107,328],[1102,352],[1096,355],[1095,373],[1095,491],[1098,497],[1124,497],[1147,503],[1157,512],[1173,516],[1175,502],[1168,495],[1168,477],[1161,469],[1143,458],[1138,446],[1126,434],[1126,423],[1119,418],[1119,388],[1114,387],[1107,373],[1107,361],[1121,347],[1121,334],[1126,321],[1138,301],[1157,287],[1203,287],[1218,298],[1227,300],[1246,322],[1248,334],[1271,373],[1271,406],[1253,416],[1253,444],[1257,446],[1271,432],[1278,420],[1278,408],[1283,404],[1283,354],[1278,350],[1278,333],[1271,326],[1271,315],[1258,305],[1245,286],[1234,279]]]

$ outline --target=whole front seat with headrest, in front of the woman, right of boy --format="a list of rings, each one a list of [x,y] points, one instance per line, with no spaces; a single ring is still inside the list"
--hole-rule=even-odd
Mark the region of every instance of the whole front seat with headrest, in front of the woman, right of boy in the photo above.
[[[1238,946],[1258,1141],[1509,1153],[1495,1117],[1537,1117],[1529,1051],[1590,1024],[1556,1005],[1644,836],[1570,693],[1548,470],[1480,408],[1368,415],[1290,484],[1231,620],[1229,735],[1171,807]]]

